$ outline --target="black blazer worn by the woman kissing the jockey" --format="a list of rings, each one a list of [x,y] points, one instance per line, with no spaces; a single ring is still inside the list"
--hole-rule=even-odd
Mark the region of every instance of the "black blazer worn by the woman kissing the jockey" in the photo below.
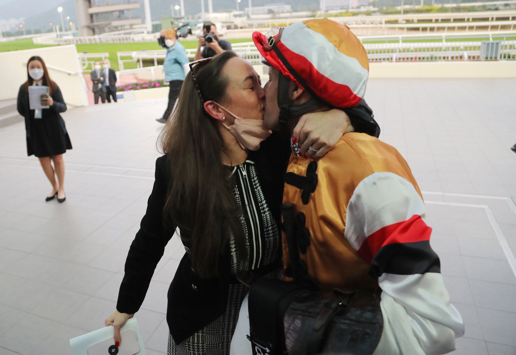
[[[362,105],[353,110],[363,114],[366,109]],[[360,117],[360,115],[354,115],[353,110],[347,110],[350,119],[352,115]],[[374,122],[372,116],[366,116]],[[377,125],[365,133],[375,135],[376,131]],[[261,143],[259,150],[249,153],[249,159],[256,164],[263,195],[278,228],[281,223],[283,175],[286,172],[291,151],[289,142],[282,140],[279,133],[273,132]],[[166,229],[163,225],[163,208],[172,179],[167,158],[165,156],[158,158],[154,187],[149,196],[147,211],[125,261],[125,275],[120,285],[117,303],[117,310],[121,313],[132,314],[139,310],[154,269],[174,233],[173,229]],[[195,271],[192,271],[188,253],[183,256],[167,295],[167,322],[175,343],[182,343],[225,312],[231,271],[229,258],[220,259],[221,276],[201,279]]]

